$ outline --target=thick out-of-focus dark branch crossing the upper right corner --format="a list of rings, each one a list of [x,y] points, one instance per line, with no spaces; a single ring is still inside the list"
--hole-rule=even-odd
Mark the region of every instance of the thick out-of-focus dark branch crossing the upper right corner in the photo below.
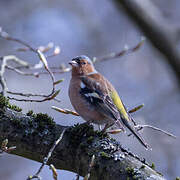
[[[114,0],[125,8],[151,43],[166,57],[180,84],[180,51],[177,49],[179,31],[163,18],[150,0]],[[119,8],[121,10],[121,8]]]

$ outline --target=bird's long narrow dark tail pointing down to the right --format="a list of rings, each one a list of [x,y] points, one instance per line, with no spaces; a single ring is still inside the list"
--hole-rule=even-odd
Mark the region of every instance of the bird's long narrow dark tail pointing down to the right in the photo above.
[[[130,117],[130,120],[132,119],[132,117]],[[130,124],[129,120],[125,119],[125,118],[121,118],[123,124],[133,133],[133,135],[138,139],[138,141],[146,148],[146,149],[151,149],[151,147],[145,142],[145,140],[143,139],[143,137],[139,134],[139,132],[135,129],[135,127],[133,125]],[[133,121],[133,119],[131,120]]]

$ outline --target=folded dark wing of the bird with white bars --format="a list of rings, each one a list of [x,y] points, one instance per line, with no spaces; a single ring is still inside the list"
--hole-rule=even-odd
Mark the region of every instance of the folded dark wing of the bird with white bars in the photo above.
[[[119,120],[120,114],[108,94],[107,85],[104,84],[106,81],[89,76],[82,76],[81,80],[81,95],[104,115],[111,117],[115,121]]]

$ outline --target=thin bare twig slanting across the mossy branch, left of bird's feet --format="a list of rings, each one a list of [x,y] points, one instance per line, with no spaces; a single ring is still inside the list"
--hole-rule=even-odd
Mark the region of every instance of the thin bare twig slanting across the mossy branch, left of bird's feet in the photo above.
[[[31,180],[31,179],[35,179],[35,178],[40,179],[39,174],[41,173],[43,167],[47,164],[47,162],[48,162],[49,158],[51,157],[51,155],[52,155],[55,147],[59,144],[59,142],[60,142],[61,139],[63,138],[63,135],[64,135],[65,131],[66,131],[66,129],[64,129],[64,130],[62,131],[62,133],[60,134],[59,138],[54,142],[53,146],[51,147],[51,149],[50,149],[49,152],[48,152],[48,155],[44,158],[43,163],[42,163],[42,165],[40,166],[40,168],[38,169],[38,171],[36,172],[36,174],[33,175],[33,176],[29,176],[29,177],[27,178],[27,180]]]

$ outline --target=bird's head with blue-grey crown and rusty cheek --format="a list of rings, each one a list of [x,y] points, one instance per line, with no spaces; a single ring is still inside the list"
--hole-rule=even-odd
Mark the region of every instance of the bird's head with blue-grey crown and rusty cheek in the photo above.
[[[69,64],[72,66],[72,75],[82,76],[96,72],[90,58],[84,55],[73,58]]]

